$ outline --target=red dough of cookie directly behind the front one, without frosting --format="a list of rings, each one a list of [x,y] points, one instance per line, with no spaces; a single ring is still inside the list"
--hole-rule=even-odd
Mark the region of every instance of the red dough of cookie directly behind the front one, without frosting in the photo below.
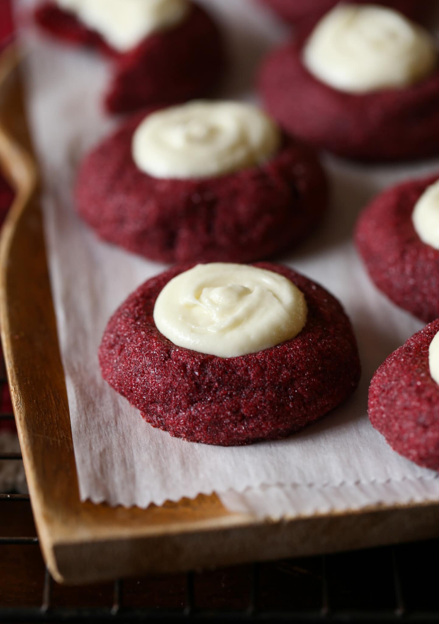
[[[78,212],[106,241],[164,262],[260,260],[300,243],[320,222],[328,186],[313,151],[285,135],[268,162],[212,178],[151,177],[131,139],[144,114],[85,158]]]

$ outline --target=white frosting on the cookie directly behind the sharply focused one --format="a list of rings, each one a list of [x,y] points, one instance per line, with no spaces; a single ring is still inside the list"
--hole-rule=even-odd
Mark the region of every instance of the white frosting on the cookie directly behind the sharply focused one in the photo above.
[[[156,178],[224,175],[265,162],[280,130],[242,102],[195,101],[148,115],[133,136],[133,159]]]

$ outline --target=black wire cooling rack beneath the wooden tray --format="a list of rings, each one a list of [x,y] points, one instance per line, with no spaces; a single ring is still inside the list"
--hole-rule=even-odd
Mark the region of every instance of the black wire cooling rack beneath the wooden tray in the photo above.
[[[29,496],[0,494],[1,623],[439,622],[438,560],[434,540],[68,588],[44,566]]]

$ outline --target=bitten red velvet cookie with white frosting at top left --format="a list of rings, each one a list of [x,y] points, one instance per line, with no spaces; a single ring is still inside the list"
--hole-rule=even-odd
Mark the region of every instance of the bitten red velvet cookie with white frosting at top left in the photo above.
[[[220,31],[189,0],[57,0],[40,4],[35,19],[50,35],[110,59],[109,112],[205,97],[224,73]]]

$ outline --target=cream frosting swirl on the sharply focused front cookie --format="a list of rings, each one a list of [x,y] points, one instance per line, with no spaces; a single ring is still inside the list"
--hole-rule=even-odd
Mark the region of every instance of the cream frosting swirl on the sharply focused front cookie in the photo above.
[[[249,265],[196,265],[164,286],[154,322],[177,346],[234,358],[294,338],[307,315],[303,293],[278,273]]]

